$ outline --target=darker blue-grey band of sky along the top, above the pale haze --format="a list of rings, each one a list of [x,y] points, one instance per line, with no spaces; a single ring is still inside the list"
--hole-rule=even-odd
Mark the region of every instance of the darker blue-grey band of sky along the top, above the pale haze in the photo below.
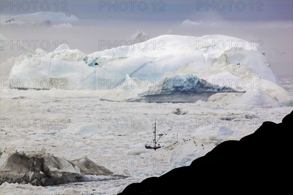
[[[49,8],[48,8],[49,5]],[[75,15],[81,20],[292,20],[292,0],[1,0],[1,15],[47,10]],[[210,16],[210,17],[209,17]],[[217,17],[215,17],[217,16]]]

